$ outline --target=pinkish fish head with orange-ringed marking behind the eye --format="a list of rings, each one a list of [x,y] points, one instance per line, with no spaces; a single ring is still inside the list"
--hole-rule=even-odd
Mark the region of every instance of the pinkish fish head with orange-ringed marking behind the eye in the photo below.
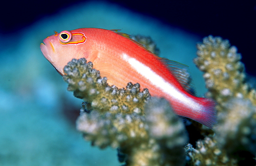
[[[84,33],[77,30],[64,30],[60,33],[48,36],[41,43],[40,49],[44,57],[54,66],[54,68],[64,75],[63,68],[73,58],[87,58],[87,40]],[[83,51],[84,50],[84,51]]]

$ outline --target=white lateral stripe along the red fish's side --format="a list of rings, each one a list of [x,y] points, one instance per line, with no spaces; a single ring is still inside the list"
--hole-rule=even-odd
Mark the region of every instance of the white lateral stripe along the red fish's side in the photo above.
[[[160,90],[166,93],[172,98],[177,99],[182,104],[193,110],[200,110],[201,105],[196,103],[193,99],[188,98],[183,92],[180,92],[177,88],[166,82],[161,76],[153,72],[149,67],[143,63],[137,61],[134,58],[130,58],[127,54],[123,54],[123,59],[127,61],[138,73],[147,78],[152,84],[157,86]]]

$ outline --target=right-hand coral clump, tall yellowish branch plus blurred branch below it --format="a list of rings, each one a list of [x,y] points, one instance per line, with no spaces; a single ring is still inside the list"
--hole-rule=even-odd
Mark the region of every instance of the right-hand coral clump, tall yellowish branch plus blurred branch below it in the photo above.
[[[218,122],[212,141],[221,152],[228,154],[229,161],[232,158],[244,160],[241,153],[249,154],[246,156],[249,159],[256,152],[256,95],[245,82],[241,55],[236,47],[230,47],[228,40],[220,37],[206,37],[197,48],[198,57],[194,62],[204,72],[209,90],[206,95],[217,102]],[[209,144],[205,140],[201,142]]]

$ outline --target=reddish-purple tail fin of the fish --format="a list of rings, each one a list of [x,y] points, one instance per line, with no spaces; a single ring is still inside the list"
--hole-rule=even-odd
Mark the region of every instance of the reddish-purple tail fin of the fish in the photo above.
[[[212,129],[216,121],[215,101],[211,98],[201,98],[203,109],[200,111],[199,117],[196,119],[199,123]]]

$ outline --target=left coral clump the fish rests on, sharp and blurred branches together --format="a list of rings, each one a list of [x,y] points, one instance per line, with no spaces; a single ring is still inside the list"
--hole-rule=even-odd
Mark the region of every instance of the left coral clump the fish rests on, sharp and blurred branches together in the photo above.
[[[185,126],[165,99],[150,100],[138,83],[128,83],[126,89],[109,86],[84,58],[73,59],[64,72],[68,90],[87,102],[77,129],[92,145],[118,148],[119,161],[130,166],[185,164]]]

